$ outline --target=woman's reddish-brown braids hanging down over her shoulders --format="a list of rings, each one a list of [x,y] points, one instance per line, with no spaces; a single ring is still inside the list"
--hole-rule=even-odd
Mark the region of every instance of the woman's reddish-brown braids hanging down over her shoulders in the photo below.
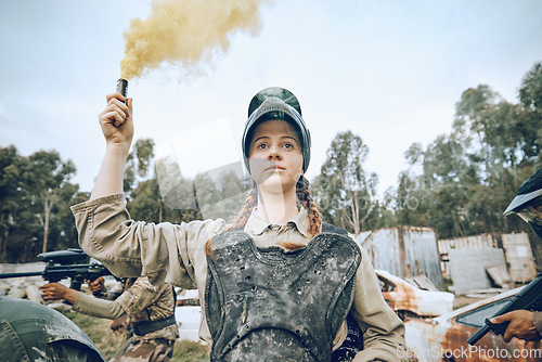
[[[312,196],[310,195],[309,181],[304,176],[301,176],[299,180],[297,180],[296,195],[299,204],[307,210],[307,215],[309,217],[309,234],[311,236],[320,234],[320,232],[322,231],[322,216],[318,210],[317,204],[312,199]],[[235,220],[228,228],[225,228],[222,233],[230,230],[244,230],[246,222],[253,214],[256,205],[258,205],[258,188],[255,185],[250,191],[248,197],[245,199],[245,205],[237,214]],[[212,237],[209,238],[207,243],[205,243],[205,253],[207,255],[210,255],[212,253],[211,242]],[[292,243],[279,243],[279,245],[287,250],[294,250],[302,247],[300,245]]]

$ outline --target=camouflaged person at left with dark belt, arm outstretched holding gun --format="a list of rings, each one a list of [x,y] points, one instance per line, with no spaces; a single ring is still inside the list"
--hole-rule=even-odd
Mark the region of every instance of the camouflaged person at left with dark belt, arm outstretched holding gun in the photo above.
[[[102,289],[103,279],[91,284],[91,290]],[[170,285],[154,286],[146,277],[127,279],[124,293],[115,300],[95,298],[60,283],[48,283],[40,288],[44,300],[65,299],[74,311],[87,315],[116,321],[128,316],[133,336],[112,361],[168,361],[172,357],[179,327]]]

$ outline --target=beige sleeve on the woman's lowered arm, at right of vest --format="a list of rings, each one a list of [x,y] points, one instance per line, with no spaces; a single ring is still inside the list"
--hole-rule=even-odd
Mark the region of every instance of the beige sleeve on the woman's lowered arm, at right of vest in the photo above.
[[[361,251],[352,315],[363,332],[363,350],[353,361],[409,361],[401,358],[406,350],[404,324],[384,300],[369,255]]]

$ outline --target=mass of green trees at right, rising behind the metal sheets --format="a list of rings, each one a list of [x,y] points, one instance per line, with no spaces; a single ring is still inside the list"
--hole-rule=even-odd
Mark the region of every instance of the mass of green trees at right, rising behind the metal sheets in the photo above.
[[[487,85],[467,89],[455,105],[451,132],[426,150],[413,144],[405,152],[410,168],[400,173],[396,191],[398,223],[435,228],[441,238],[529,229],[502,211],[542,166],[540,63],[519,94],[521,103],[512,104]]]

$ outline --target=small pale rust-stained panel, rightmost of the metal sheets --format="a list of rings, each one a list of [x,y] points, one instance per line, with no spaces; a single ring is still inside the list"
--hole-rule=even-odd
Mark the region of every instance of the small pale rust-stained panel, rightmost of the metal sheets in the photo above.
[[[537,266],[527,233],[502,234],[508,272],[516,283],[527,283],[537,276]]]

